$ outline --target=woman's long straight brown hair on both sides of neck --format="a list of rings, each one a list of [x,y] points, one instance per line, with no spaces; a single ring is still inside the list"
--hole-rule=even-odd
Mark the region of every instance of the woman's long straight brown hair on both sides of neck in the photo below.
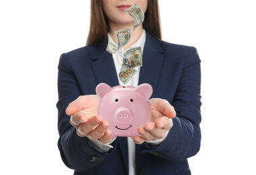
[[[107,38],[109,22],[101,7],[101,0],[91,0],[90,29],[86,46],[101,44]],[[158,0],[148,0],[143,28],[157,40],[161,40],[161,22]]]

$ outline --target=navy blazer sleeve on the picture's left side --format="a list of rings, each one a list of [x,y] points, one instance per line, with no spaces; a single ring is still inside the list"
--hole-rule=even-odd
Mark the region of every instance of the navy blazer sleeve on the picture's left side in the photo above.
[[[82,94],[69,61],[68,54],[63,54],[58,65],[58,147],[61,158],[68,168],[85,171],[101,164],[107,153],[101,153],[93,149],[86,138],[79,137],[76,134],[76,129],[70,125],[70,116],[66,114],[66,108],[70,102],[76,100]],[[112,145],[115,147],[116,142],[113,142]],[[113,149],[109,150],[109,153],[111,151]]]

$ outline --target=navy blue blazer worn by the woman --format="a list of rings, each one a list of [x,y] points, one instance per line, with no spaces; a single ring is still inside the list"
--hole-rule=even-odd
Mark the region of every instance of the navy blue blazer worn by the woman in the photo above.
[[[88,145],[86,137],[76,135],[66,107],[78,96],[96,94],[99,83],[118,84],[107,40],[61,55],[58,72],[58,147],[61,158],[74,174],[128,174],[126,137],[118,137],[113,149],[101,153]],[[153,87],[151,98],[168,100],[176,110],[174,126],[158,146],[136,145],[137,174],[190,174],[187,158],[200,149],[201,60],[191,46],[155,40],[146,33],[140,83]]]

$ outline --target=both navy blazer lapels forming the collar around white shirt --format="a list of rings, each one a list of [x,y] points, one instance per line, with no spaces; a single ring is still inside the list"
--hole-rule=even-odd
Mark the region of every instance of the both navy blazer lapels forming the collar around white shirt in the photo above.
[[[98,83],[104,82],[113,87],[119,85],[119,81],[112,55],[106,51],[106,48],[107,40],[105,40],[103,44],[96,46],[94,55],[91,57],[93,60],[92,67]],[[146,31],[146,41],[143,50],[143,66],[140,67],[138,84],[149,83],[152,85],[153,90],[156,89],[163,57],[163,48],[160,45],[160,41],[153,38]]]

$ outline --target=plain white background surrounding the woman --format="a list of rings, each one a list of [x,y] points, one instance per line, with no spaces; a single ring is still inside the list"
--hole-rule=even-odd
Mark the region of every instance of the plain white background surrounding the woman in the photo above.
[[[250,0],[159,1],[163,40],[202,63],[195,175],[255,174],[256,27]],[[59,56],[84,46],[88,0],[0,3],[0,174],[72,174],[57,149]]]

